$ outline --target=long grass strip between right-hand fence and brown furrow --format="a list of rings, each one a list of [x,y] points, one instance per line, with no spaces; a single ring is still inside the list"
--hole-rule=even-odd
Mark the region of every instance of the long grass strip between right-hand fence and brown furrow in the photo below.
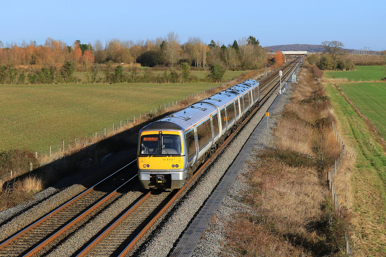
[[[386,156],[358,116],[332,84],[325,86],[347,147],[356,154],[351,178],[352,210],[355,213],[356,249],[362,256],[384,256],[386,250]],[[368,101],[368,104],[372,105]],[[385,105],[384,105],[385,106]]]

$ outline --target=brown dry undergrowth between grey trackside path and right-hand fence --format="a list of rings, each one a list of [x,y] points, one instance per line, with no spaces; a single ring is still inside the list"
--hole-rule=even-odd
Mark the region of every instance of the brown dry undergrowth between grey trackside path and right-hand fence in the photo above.
[[[335,210],[326,181],[340,147],[328,98],[310,70],[300,70],[303,80],[278,118],[276,140],[249,164],[243,202],[252,212],[237,213],[230,222],[224,255],[344,255],[352,214],[345,207]],[[341,176],[337,190],[349,181]]]

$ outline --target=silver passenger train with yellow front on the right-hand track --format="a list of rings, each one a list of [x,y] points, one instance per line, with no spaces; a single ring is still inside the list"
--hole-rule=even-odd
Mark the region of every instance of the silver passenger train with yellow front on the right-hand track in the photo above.
[[[259,82],[249,79],[142,128],[137,158],[142,186],[183,187],[259,100]]]

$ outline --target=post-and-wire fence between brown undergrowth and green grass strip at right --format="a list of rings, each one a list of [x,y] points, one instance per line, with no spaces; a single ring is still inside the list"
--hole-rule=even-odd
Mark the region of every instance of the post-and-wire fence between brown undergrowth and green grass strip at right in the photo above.
[[[328,108],[328,111],[330,111],[330,108]],[[335,210],[340,211],[340,205],[339,205],[339,200],[338,200],[338,194],[335,190],[335,185],[334,185],[334,176],[337,175],[337,172],[339,171],[339,166],[342,163],[342,156],[346,153],[346,146],[343,143],[343,140],[340,138],[337,129],[335,128],[334,121],[332,122],[332,129],[334,130],[335,133],[335,139],[339,143],[339,146],[342,150],[340,153],[338,159],[335,161],[334,166],[332,166],[331,171],[327,172],[327,183],[328,183],[328,188],[330,189],[331,192],[331,199],[334,202],[335,205]],[[350,249],[350,244],[349,244],[349,239],[347,238],[347,232],[344,232],[344,237],[345,237],[345,252],[347,256],[352,256],[351,255],[351,249]]]

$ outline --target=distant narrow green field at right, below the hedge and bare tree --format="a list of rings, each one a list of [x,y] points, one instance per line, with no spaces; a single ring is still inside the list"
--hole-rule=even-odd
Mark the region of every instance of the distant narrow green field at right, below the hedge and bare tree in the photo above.
[[[356,71],[325,71],[326,78],[347,78],[349,81],[372,81],[386,77],[386,66],[356,66]]]

